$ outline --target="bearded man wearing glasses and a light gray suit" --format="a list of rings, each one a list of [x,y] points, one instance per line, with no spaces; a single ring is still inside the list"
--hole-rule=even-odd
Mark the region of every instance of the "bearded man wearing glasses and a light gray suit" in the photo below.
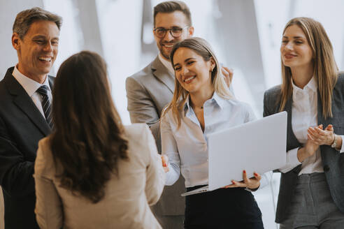
[[[158,152],[161,152],[159,119],[163,108],[171,101],[174,90],[174,69],[169,60],[172,47],[181,40],[192,37],[191,13],[182,1],[165,1],[154,8],[155,41],[159,54],[143,70],[127,77],[128,111],[132,123],[147,123],[155,136]],[[232,73],[223,68],[227,82]],[[165,186],[162,197],[152,211],[162,228],[183,228],[185,192],[182,176],[173,186]]]

